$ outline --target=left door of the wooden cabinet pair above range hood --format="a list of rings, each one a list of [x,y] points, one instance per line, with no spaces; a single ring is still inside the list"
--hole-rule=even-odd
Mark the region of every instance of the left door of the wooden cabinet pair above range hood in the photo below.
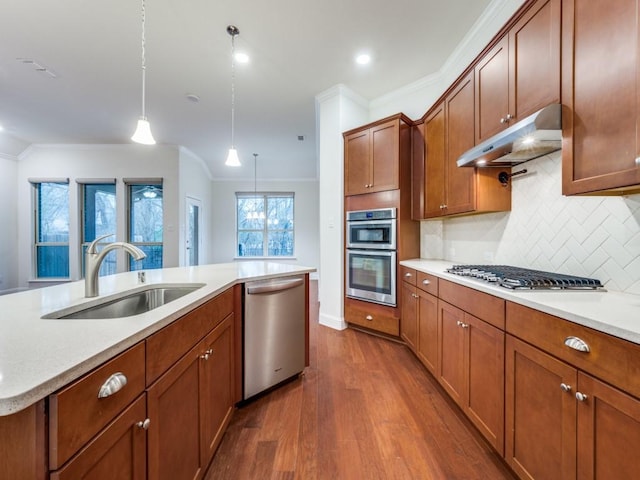
[[[532,59],[533,61],[533,59]],[[476,65],[476,143],[509,123],[509,37],[504,36]]]

